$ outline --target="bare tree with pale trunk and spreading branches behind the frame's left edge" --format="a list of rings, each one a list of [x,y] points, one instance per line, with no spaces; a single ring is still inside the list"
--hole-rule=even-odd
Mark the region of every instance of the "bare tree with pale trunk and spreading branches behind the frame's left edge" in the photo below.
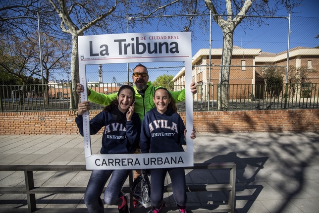
[[[10,34],[19,32],[23,37],[37,27],[37,14],[41,15],[41,28],[43,32],[63,39],[72,41],[71,53],[71,79],[73,85],[73,97],[70,107],[76,108],[79,97],[76,95],[75,87],[79,82],[78,72],[78,36],[88,34],[107,34],[125,32],[125,17],[129,15],[166,13],[171,5],[180,3],[180,0],[162,1],[133,1],[133,0],[19,0],[18,2],[7,2],[0,8],[0,22],[2,29]],[[197,1],[187,0],[178,4],[180,6],[175,12],[189,12],[190,2],[197,4]],[[195,3],[194,3],[195,2]],[[115,11],[115,9],[117,9]],[[168,10],[167,10],[168,11]],[[195,13],[192,10],[192,13]],[[169,10],[171,13],[171,10]],[[28,28],[23,26],[27,25]],[[59,26],[60,32],[55,28]],[[184,29],[188,30],[188,26]],[[61,34],[64,33],[63,34]],[[67,35],[67,36],[65,36]]]

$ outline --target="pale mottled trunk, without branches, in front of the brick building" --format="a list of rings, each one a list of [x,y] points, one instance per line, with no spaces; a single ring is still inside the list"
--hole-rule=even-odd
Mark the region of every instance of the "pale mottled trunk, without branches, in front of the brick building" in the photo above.
[[[234,23],[230,22],[223,26],[223,51],[220,62],[219,85],[218,85],[218,110],[227,110],[229,104],[229,73],[231,56],[233,52]]]

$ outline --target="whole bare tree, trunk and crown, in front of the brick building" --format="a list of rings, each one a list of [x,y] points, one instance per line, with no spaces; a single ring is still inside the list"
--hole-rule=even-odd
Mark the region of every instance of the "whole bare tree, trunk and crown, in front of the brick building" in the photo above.
[[[219,110],[228,109],[229,65],[231,64],[235,28],[246,15],[274,15],[282,6],[290,12],[293,7],[300,5],[300,2],[301,0],[205,0],[205,5],[212,11],[213,19],[223,34],[218,88],[218,94],[220,95]]]

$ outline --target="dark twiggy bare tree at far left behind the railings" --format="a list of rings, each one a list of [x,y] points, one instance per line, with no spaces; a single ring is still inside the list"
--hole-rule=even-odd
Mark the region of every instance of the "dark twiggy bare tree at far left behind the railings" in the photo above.
[[[23,84],[29,78],[42,76],[40,66],[40,49],[37,34],[31,33],[24,38],[0,34],[1,59],[0,67],[4,73],[16,76]],[[48,83],[52,72],[69,71],[70,46],[53,37],[43,35],[43,68],[46,73],[45,83]]]

